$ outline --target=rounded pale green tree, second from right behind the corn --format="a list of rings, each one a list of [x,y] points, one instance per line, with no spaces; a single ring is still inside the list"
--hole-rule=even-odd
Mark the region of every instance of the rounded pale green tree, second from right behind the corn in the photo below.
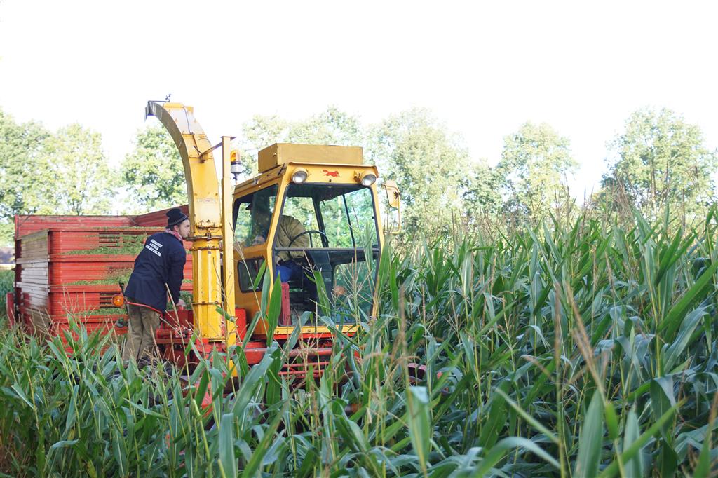
[[[571,156],[569,139],[546,123],[525,123],[504,138],[496,170],[507,212],[541,220],[567,200],[567,179],[578,163]]]

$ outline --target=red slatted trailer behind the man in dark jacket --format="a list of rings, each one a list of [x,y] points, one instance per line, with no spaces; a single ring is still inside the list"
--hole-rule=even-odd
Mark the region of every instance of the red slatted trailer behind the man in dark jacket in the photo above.
[[[187,213],[187,206],[182,210]],[[115,327],[126,314],[112,298],[120,293],[119,283],[127,283],[147,236],[164,229],[166,211],[126,216],[16,216],[15,289],[7,298],[11,323],[35,334],[62,336],[73,320],[84,324],[88,332],[126,333],[126,327]],[[190,245],[185,243],[185,248]],[[189,253],[181,290],[192,292]],[[187,311],[181,312],[180,320],[187,321]],[[162,338],[168,339],[165,336],[167,330]]]

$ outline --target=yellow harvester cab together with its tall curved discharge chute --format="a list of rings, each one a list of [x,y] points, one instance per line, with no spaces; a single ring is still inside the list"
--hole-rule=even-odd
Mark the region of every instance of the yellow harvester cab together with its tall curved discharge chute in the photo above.
[[[233,184],[230,137],[212,146],[181,103],[149,102],[146,113],[167,128],[185,168],[192,324],[204,350],[242,342],[251,365],[269,334],[283,342],[302,324],[299,340],[319,355],[332,328],[353,334],[376,314],[378,260],[384,233],[398,232],[399,192],[386,182],[384,203],[396,219],[385,231],[378,170],[360,147],[274,144],[259,151],[256,177]],[[218,180],[213,151],[220,147]],[[276,324],[262,311],[267,286],[273,299],[281,294]]]

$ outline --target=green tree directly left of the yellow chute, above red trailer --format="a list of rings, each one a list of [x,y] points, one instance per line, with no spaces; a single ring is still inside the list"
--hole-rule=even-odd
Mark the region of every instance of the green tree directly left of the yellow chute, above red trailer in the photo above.
[[[135,148],[122,162],[124,186],[136,207],[159,210],[187,202],[187,182],[182,157],[162,125],[138,130]]]

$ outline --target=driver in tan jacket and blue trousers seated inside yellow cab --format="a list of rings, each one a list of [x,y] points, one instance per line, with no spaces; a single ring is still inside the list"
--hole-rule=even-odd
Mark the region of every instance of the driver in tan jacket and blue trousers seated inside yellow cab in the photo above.
[[[264,244],[269,235],[271,225],[271,211],[263,202],[251,202],[247,206],[252,212],[252,225],[255,231],[252,245]],[[306,230],[294,217],[281,215],[276,230],[276,247],[278,248],[308,248],[309,235],[304,234]],[[276,273],[280,281],[289,282],[293,278],[304,273],[304,269],[295,260],[304,258],[301,250],[282,250],[276,255]]]

